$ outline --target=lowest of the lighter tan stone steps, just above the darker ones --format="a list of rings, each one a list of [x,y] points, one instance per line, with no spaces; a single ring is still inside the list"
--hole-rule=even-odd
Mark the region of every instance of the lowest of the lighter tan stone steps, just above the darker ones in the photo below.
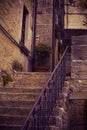
[[[9,100],[28,100],[28,99],[36,99],[38,97],[37,93],[1,93],[0,92],[0,100],[5,100],[5,99],[9,99]]]

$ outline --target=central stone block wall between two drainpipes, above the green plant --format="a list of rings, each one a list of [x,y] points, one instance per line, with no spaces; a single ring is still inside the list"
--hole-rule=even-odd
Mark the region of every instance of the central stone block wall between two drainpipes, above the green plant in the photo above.
[[[36,43],[52,45],[52,15],[53,0],[45,2],[38,0],[37,6],[37,26]]]

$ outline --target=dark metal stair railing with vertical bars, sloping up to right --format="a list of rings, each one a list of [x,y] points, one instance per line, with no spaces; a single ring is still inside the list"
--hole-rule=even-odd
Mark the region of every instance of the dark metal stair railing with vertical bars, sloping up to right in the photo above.
[[[21,130],[45,130],[56,100],[59,99],[64,86],[67,50],[68,47],[40,93]]]

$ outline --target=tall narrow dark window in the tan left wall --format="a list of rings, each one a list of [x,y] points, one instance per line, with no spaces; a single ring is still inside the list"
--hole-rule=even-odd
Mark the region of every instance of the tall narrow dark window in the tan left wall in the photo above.
[[[28,10],[24,6],[23,8],[23,19],[22,19],[22,36],[21,36],[21,44],[24,45],[25,42],[25,29],[26,29],[26,20],[27,20],[27,15],[28,15]]]

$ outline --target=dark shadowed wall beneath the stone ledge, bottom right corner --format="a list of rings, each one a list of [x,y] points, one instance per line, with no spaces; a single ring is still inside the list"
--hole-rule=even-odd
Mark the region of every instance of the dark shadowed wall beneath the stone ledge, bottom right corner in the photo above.
[[[69,128],[70,130],[85,130],[85,101],[73,100],[69,102]]]

